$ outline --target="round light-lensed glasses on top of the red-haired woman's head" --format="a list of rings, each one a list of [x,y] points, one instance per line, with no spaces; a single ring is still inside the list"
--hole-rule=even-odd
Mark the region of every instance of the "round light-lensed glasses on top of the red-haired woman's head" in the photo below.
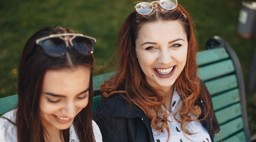
[[[178,5],[177,0],[159,0],[153,2],[159,2],[159,5],[166,10],[175,9]],[[136,4],[134,9],[141,15],[150,14],[154,9],[152,4],[153,2],[139,2],[138,4]]]

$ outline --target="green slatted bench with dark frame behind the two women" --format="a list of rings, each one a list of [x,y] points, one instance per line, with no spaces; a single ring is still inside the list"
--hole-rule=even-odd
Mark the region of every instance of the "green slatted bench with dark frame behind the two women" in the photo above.
[[[212,95],[213,109],[220,124],[214,142],[250,142],[243,73],[234,50],[225,40],[214,36],[207,41],[207,50],[197,54],[198,75]],[[93,77],[94,111],[100,103],[100,85],[114,75],[110,72]],[[0,98],[0,114],[15,108],[17,95]],[[255,140],[254,140],[255,141]]]

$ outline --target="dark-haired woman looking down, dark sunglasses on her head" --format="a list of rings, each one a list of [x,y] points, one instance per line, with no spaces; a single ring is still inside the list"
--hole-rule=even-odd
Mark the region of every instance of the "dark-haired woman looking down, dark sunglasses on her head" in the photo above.
[[[102,141],[92,120],[95,42],[60,26],[29,38],[18,69],[18,106],[0,117],[0,141]]]

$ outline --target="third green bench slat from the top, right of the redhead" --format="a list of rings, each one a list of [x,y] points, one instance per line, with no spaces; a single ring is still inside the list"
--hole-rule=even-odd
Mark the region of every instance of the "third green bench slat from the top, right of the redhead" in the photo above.
[[[235,74],[228,75],[222,78],[217,78],[215,80],[207,81],[205,82],[205,85],[207,86],[211,95],[214,95],[216,93],[221,93],[223,91],[228,91],[230,89],[234,89],[235,87],[238,87]]]

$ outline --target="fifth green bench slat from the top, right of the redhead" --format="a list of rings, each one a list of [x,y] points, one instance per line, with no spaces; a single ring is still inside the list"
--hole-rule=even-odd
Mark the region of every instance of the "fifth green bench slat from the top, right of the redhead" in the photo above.
[[[225,109],[221,109],[220,111],[216,111],[215,115],[219,124],[223,124],[224,122],[242,115],[241,104],[234,104]]]

